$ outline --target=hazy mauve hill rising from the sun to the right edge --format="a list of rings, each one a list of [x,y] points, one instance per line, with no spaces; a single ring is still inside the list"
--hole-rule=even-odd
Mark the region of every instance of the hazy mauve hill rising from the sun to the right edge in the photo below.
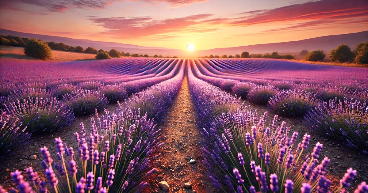
[[[343,35],[332,35],[315,37],[311,39],[298,40],[292,42],[256,44],[250,46],[215,48],[210,50],[199,51],[199,56],[209,54],[223,55],[223,54],[240,54],[243,51],[249,53],[265,54],[279,51],[280,53],[294,53],[301,50],[331,50],[335,49],[340,44],[347,44],[351,49],[354,49],[358,43],[368,41],[368,31],[358,33],[348,33]]]

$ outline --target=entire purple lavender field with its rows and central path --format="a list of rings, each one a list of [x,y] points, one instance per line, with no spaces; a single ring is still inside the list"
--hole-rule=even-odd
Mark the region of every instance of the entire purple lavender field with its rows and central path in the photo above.
[[[0,192],[354,192],[368,69],[264,58],[0,61]]]

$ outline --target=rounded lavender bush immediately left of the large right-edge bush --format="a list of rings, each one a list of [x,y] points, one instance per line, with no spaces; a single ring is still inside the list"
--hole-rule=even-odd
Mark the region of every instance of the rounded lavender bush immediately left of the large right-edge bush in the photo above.
[[[282,90],[268,102],[268,107],[282,116],[304,116],[318,106],[315,94],[303,90]]]

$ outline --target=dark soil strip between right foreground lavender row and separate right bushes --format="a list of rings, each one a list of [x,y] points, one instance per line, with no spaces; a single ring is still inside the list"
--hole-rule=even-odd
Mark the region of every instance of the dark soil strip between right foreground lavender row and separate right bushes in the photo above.
[[[277,114],[270,111],[267,106],[258,106],[255,104],[251,104],[246,99],[242,99],[241,101],[244,102],[246,105],[249,105],[253,109],[257,109],[259,117],[263,114],[263,112],[268,111],[268,118],[266,121],[267,124],[271,122],[273,120],[273,116]],[[326,177],[328,177],[332,182],[331,187],[340,186],[340,179],[345,174],[346,170],[350,167],[357,171],[357,176],[355,176],[353,183],[351,183],[350,190],[354,190],[362,181],[368,181],[367,154],[362,153],[362,151],[358,151],[356,149],[348,147],[346,143],[344,143],[342,140],[310,130],[303,123],[303,117],[279,116],[278,123],[281,124],[282,121],[285,121],[286,126],[290,128],[290,135],[292,135],[293,132],[298,132],[299,135],[297,143],[301,142],[302,137],[305,133],[311,135],[311,140],[309,141],[307,153],[311,153],[313,151],[314,145],[317,142],[323,144],[323,150],[321,151],[319,161],[321,162],[324,157],[328,157],[331,160],[326,172]]]

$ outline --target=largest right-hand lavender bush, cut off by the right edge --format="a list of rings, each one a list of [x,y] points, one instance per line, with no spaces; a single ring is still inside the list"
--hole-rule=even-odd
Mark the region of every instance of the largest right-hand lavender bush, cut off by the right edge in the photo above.
[[[359,100],[333,99],[322,103],[305,115],[305,125],[368,154],[368,103]]]

